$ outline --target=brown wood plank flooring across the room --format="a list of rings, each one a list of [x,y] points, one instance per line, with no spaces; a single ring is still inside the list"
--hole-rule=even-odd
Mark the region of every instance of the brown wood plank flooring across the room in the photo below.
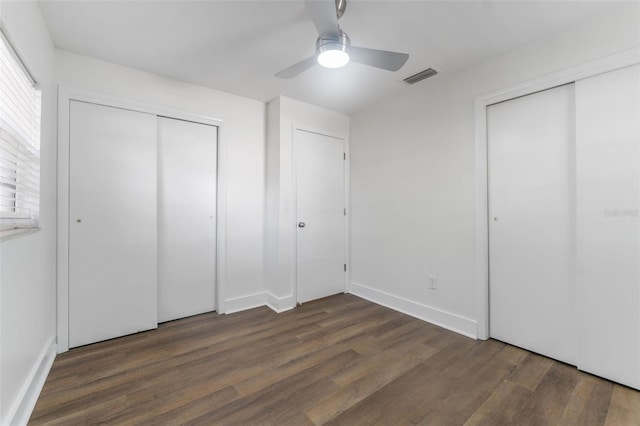
[[[640,426],[640,392],[344,294],[72,349],[30,424]]]

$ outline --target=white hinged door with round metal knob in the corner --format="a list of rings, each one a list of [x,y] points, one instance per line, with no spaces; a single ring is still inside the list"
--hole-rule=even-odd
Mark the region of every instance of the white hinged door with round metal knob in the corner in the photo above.
[[[297,299],[344,292],[344,141],[296,130]]]

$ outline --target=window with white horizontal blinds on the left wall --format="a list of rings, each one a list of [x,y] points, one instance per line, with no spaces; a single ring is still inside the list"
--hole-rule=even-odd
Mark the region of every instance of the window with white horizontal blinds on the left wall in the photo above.
[[[0,231],[38,227],[40,90],[0,33]]]

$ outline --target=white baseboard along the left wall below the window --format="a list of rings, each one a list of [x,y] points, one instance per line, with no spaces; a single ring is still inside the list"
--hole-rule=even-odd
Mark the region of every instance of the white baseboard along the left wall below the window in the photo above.
[[[56,358],[58,350],[56,348],[55,337],[49,340],[45,345],[42,353],[38,357],[38,360],[31,368],[27,379],[18,394],[18,397],[14,401],[13,405],[7,412],[7,416],[1,419],[2,424],[11,426],[26,425],[31,417],[33,408],[36,406],[44,382],[47,380],[53,360]]]

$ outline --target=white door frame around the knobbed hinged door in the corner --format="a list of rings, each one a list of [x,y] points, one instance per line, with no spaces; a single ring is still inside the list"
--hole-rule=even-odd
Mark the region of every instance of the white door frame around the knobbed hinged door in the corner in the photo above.
[[[341,136],[333,134],[332,132],[327,132],[322,129],[318,129],[316,126],[307,126],[304,124],[293,123],[292,128],[292,137],[291,137],[291,229],[293,229],[292,237],[291,237],[291,283],[292,285],[292,293],[293,293],[293,301],[294,304],[299,304],[298,301],[298,176],[296,173],[296,132],[308,132],[315,133],[317,135],[326,136],[329,138],[342,140],[345,160],[344,160],[344,206],[347,209],[347,212],[344,216],[344,263],[347,265],[347,270],[344,273],[344,282],[343,288],[344,292],[347,292],[347,283],[349,283],[349,279],[351,276],[351,268],[350,268],[350,247],[349,247],[349,235],[350,235],[350,182],[349,182],[349,138],[347,136]]]

